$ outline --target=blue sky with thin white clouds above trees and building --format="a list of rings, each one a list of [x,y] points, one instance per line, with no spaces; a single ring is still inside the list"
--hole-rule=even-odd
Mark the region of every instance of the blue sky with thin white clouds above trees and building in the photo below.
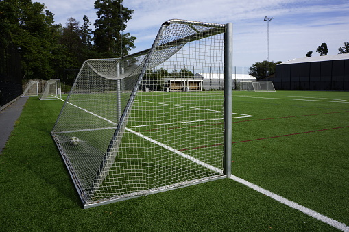
[[[34,0],[35,1],[35,0]],[[82,22],[84,14],[94,23],[95,0],[38,0],[55,14],[56,23],[67,18]],[[349,42],[349,1],[299,0],[125,0],[134,10],[125,32],[136,36],[136,49],[148,49],[160,25],[171,19],[209,23],[233,23],[234,66],[251,66],[267,58],[267,22],[269,23],[269,60],[282,61],[316,53],[326,42],[328,55],[338,53]],[[93,26],[91,29],[94,29]],[[91,57],[93,58],[93,57]]]

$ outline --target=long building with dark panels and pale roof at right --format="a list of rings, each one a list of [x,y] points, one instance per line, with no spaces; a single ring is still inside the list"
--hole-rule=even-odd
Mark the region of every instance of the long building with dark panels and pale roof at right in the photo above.
[[[270,80],[276,90],[349,90],[349,54],[282,62]]]

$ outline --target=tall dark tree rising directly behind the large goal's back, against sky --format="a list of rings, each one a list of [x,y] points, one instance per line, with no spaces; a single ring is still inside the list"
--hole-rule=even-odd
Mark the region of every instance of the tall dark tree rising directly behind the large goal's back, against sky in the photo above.
[[[97,0],[95,9],[97,19],[93,31],[95,48],[105,56],[128,55],[134,48],[136,37],[130,34],[121,34],[126,28],[126,23],[132,18],[132,12],[125,8],[123,0]]]

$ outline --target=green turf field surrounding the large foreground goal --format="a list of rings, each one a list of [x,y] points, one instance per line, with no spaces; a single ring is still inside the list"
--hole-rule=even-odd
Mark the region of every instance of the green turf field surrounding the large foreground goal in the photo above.
[[[349,231],[349,92],[234,92],[232,174],[247,185],[222,179],[91,209],[49,134],[62,105],[29,99],[0,155],[0,231]]]

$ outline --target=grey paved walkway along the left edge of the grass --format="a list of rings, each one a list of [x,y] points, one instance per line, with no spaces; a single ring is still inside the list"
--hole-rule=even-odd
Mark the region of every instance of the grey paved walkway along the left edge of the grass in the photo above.
[[[0,154],[6,142],[8,142],[8,137],[13,130],[14,123],[16,123],[16,120],[21,115],[27,99],[27,97],[20,97],[0,112]]]

